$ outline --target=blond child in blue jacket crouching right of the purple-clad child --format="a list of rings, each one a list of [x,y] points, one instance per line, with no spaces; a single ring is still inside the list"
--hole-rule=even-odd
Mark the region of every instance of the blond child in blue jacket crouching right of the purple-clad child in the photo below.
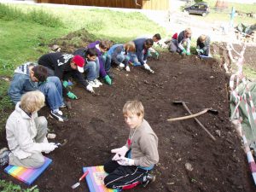
[[[130,72],[128,53],[135,51],[135,44],[128,42],[126,44],[114,44],[109,50],[108,55],[111,55],[111,63],[119,68],[124,68],[127,72]]]

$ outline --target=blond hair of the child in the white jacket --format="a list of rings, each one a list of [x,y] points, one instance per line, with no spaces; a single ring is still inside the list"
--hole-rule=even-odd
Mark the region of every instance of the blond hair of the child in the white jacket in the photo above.
[[[45,97],[39,90],[27,92],[20,99],[20,108],[26,113],[37,112],[40,108],[44,107]]]

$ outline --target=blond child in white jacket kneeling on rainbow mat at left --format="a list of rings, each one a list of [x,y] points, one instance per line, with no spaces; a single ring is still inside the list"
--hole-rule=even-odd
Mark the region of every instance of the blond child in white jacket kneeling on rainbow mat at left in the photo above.
[[[44,106],[44,94],[38,90],[21,96],[15,111],[6,123],[8,148],[0,150],[0,165],[38,168],[44,165],[41,152],[49,153],[57,148],[55,143],[48,143],[47,120],[38,117],[38,110]]]

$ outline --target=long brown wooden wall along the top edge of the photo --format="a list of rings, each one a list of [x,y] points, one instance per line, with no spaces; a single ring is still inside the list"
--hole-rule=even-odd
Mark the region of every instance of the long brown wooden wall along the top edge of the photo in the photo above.
[[[170,0],[38,0],[38,3],[57,3],[127,9],[167,10],[169,9],[169,1]]]

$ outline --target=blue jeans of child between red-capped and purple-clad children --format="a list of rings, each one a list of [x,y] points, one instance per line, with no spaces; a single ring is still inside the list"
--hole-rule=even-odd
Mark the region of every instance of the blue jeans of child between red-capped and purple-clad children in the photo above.
[[[92,81],[97,79],[100,73],[99,59],[96,58],[95,61],[87,61],[84,65],[84,71],[87,72],[87,80]]]

